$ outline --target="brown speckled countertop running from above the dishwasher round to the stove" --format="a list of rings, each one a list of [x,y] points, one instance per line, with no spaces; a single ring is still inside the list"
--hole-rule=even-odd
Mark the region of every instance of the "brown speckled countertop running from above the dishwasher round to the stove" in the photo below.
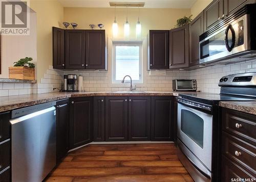
[[[70,97],[90,97],[90,96],[178,96],[181,93],[195,92],[53,92],[44,94],[28,94],[17,96],[0,97],[0,112],[11,111],[18,108],[37,105],[39,103],[49,102],[53,100],[61,100]],[[201,92],[197,92],[201,93]]]

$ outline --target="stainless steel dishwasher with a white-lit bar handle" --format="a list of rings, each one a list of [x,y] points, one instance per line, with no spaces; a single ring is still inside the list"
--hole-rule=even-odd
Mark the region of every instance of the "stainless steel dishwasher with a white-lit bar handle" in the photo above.
[[[12,181],[42,181],[56,165],[56,101],[11,114]]]

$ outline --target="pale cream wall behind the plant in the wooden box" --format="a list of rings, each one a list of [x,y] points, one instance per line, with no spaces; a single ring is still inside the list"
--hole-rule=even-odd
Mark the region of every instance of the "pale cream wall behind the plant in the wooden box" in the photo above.
[[[9,77],[9,67],[20,58],[31,57],[36,64],[36,13],[30,12],[30,35],[1,36],[1,78]]]

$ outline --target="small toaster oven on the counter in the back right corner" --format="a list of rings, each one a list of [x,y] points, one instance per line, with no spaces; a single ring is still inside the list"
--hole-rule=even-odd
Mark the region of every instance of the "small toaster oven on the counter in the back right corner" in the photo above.
[[[196,91],[197,81],[196,80],[173,80],[173,90],[174,91]]]

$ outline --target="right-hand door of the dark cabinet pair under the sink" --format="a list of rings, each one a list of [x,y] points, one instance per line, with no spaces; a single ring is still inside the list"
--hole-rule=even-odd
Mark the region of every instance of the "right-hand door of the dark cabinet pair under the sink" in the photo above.
[[[129,97],[129,141],[150,140],[150,97]]]

